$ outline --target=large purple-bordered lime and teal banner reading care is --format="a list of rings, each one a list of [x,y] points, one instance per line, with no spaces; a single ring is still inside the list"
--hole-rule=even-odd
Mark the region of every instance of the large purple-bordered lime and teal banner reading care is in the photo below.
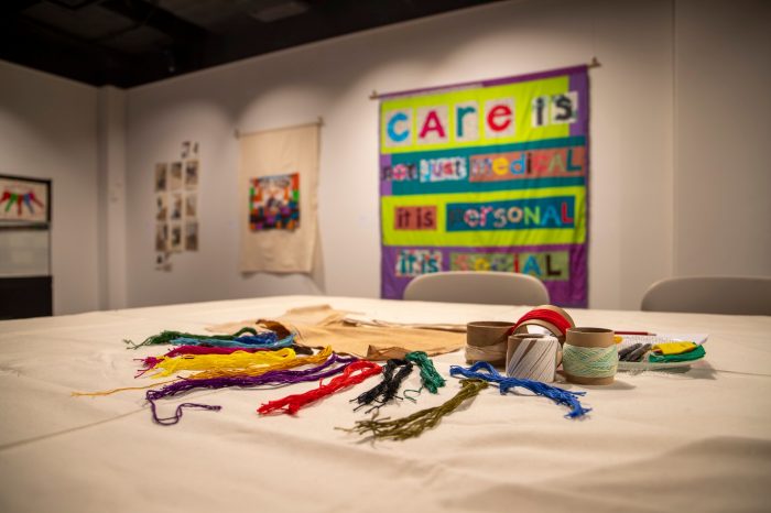
[[[509,271],[586,307],[586,66],[380,98],[382,296]]]

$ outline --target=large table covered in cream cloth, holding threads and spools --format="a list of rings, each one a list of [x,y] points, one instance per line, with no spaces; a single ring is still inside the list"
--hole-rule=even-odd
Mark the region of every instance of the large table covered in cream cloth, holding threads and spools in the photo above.
[[[160,403],[151,421],[128,351],[163,329],[274,317],[330,304],[393,321],[515,320],[528,307],[284,296],[0,323],[0,511],[768,511],[771,507],[771,317],[571,309],[579,326],[708,332],[707,358],[682,374],[618,374],[587,390],[583,421],[546,399],[488,389],[406,441],[360,443],[351,397],[368,380],[289,415],[265,401],[315,388],[199,391]],[[399,417],[448,400],[460,351],[437,357],[448,384],[401,402]],[[409,384],[419,386],[414,372]]]

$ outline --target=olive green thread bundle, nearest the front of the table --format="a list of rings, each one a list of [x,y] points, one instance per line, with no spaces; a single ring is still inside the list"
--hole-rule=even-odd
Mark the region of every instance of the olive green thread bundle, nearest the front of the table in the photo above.
[[[464,401],[475,397],[487,386],[487,382],[482,380],[460,380],[460,391],[439,406],[421,410],[412,415],[393,421],[389,418],[359,421],[352,428],[343,430],[359,435],[370,434],[376,439],[405,440],[413,438],[420,436],[425,429],[436,426],[442,417],[453,413]]]

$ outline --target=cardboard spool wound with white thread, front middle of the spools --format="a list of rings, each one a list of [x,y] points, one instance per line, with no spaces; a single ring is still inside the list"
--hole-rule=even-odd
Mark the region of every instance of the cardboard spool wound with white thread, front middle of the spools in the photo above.
[[[561,347],[556,337],[531,334],[509,339],[506,374],[520,380],[551,383],[561,360]]]

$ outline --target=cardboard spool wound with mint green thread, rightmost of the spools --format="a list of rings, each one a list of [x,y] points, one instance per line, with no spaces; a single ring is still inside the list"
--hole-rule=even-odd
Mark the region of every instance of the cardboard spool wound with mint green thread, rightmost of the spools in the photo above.
[[[618,368],[613,331],[605,328],[568,328],[562,367],[571,383],[612,383]]]

